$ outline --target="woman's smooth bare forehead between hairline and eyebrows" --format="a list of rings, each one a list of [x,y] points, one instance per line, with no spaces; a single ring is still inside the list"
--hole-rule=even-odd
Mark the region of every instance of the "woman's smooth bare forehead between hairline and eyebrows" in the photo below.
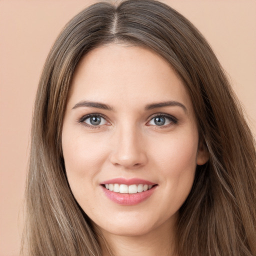
[[[84,98],[125,102],[126,106],[147,101],[190,101],[167,61],[149,49],[127,44],[100,46],[80,60],[68,101],[74,104]]]

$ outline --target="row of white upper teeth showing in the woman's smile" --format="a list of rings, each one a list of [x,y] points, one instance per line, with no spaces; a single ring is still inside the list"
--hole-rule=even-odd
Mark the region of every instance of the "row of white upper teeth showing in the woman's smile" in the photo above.
[[[146,191],[150,188],[152,188],[153,185],[147,185],[147,184],[132,184],[132,185],[125,185],[125,184],[105,184],[105,188],[109,189],[110,191],[114,191],[117,193],[129,193],[129,194],[135,194],[140,193],[143,191]]]

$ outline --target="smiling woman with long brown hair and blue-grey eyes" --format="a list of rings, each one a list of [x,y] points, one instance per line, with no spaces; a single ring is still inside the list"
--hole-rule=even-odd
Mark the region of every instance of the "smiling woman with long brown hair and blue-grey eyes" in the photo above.
[[[97,3],[53,45],[27,179],[29,255],[255,255],[253,137],[167,5]]]

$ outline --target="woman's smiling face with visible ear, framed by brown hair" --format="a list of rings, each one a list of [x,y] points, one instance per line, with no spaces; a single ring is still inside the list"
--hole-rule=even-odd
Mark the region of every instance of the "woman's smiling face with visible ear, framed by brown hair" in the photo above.
[[[157,54],[122,44],[93,49],[78,64],[62,149],[75,199],[117,235],[169,230],[196,164],[207,160],[182,81]]]

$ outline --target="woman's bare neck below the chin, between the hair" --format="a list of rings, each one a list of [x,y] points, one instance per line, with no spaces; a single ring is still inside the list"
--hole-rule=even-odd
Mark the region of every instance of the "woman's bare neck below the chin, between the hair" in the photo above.
[[[173,228],[166,223],[141,235],[116,235],[101,231],[102,256],[175,256]],[[110,248],[112,253],[107,249]]]

